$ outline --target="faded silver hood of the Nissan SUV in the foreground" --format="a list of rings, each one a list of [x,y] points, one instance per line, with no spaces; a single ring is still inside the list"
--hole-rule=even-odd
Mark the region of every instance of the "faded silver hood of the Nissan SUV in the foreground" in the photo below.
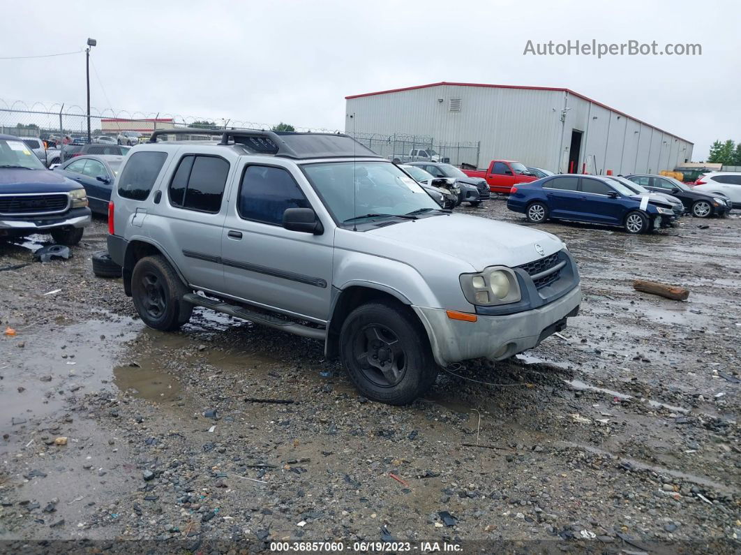
[[[439,260],[441,255],[459,259],[476,271],[492,265],[519,266],[550,256],[564,247],[561,239],[551,233],[456,213],[376,227],[365,234],[406,247],[392,247],[390,253],[402,254],[408,248],[416,249],[432,259]],[[471,243],[475,247],[467,247]],[[535,245],[542,248],[542,254]]]

